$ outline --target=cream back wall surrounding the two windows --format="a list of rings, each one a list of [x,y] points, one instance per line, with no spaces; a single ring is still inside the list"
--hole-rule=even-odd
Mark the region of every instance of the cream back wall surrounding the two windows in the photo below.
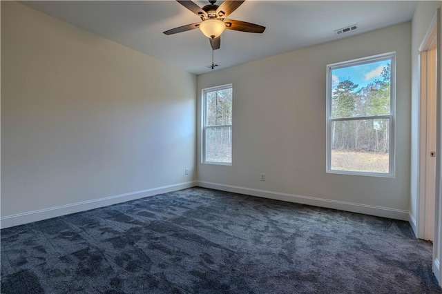
[[[198,146],[200,185],[407,219],[410,36],[411,23],[403,23],[198,76],[198,95],[203,88],[233,84],[233,165],[201,164]],[[325,173],[327,64],[391,51],[396,51],[396,177]],[[199,122],[199,136],[200,128]]]

